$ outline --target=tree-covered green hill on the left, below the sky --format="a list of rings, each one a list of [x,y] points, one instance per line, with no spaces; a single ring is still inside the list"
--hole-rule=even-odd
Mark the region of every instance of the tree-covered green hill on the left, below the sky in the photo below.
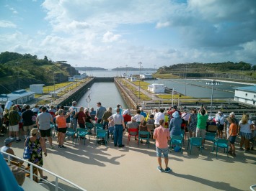
[[[54,75],[53,75],[54,73]],[[38,59],[36,55],[21,55],[16,52],[1,52],[0,54],[0,93],[10,93],[19,88],[29,88],[30,84],[45,85],[65,82],[69,75],[78,72],[65,61],[53,62]]]

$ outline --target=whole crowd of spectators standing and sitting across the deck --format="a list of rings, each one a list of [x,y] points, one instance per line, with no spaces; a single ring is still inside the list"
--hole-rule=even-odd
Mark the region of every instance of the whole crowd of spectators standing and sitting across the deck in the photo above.
[[[182,108],[180,111],[177,106],[173,106],[167,111],[159,108],[147,113],[143,109],[138,109],[133,115],[130,109],[123,110],[120,104],[116,108],[105,108],[102,103],[98,102],[96,111],[94,108],[77,107],[76,104],[76,101],[73,101],[68,109],[64,109],[63,106],[37,105],[31,109],[29,105],[21,107],[6,103],[0,108],[0,127],[1,131],[8,127],[9,138],[5,140],[5,146],[1,148],[1,151],[14,154],[11,149],[12,142],[24,139],[25,144],[28,144],[31,149],[32,158],[29,160],[42,166],[43,152],[45,157],[47,156],[46,138],[50,144],[49,148],[54,149],[52,127],[56,127],[58,131],[58,149],[66,149],[64,142],[68,127],[75,131],[78,126],[85,129],[87,123],[95,123],[102,124],[102,129],[108,131],[108,135],[112,134],[114,146],[118,147],[125,146],[123,144],[123,131],[125,130],[138,129],[138,131],[149,132],[150,136],[156,139],[158,169],[160,172],[169,172],[167,155],[169,140],[172,136],[180,136],[188,132],[189,137],[202,137],[201,149],[204,149],[208,126],[217,126],[217,138],[229,140],[229,153],[234,157],[236,156],[234,143],[237,136],[241,137],[239,149],[244,152],[253,149],[255,142],[256,124],[247,114],[244,114],[239,121],[235,118],[234,112],[231,112],[228,117],[222,111],[218,111],[215,116],[208,116],[208,111],[204,106],[199,109],[192,108],[190,111],[187,108]],[[149,125],[153,128],[150,129]],[[131,131],[131,135],[136,135],[136,131]],[[251,146],[250,140],[254,140]],[[143,143],[142,139],[140,141]],[[165,169],[162,169],[162,154],[166,164]],[[47,178],[43,176],[43,172],[40,172],[40,175]]]

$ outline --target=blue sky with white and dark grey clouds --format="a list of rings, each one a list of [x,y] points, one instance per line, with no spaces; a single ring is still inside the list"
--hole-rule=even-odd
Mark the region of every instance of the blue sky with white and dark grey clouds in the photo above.
[[[256,65],[256,1],[1,0],[6,51],[81,67]]]

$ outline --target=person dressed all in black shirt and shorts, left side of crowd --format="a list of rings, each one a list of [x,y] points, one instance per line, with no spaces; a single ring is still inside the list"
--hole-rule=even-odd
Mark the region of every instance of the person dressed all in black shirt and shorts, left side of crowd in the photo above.
[[[30,105],[26,106],[26,111],[22,112],[23,119],[23,130],[25,132],[24,136],[27,139],[27,130],[31,129],[35,126],[34,121],[32,121],[32,117],[35,116],[34,112],[30,110]]]

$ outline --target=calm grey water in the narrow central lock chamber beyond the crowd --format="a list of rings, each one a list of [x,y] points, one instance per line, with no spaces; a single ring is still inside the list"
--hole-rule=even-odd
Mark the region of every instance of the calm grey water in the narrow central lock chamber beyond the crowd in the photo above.
[[[77,106],[97,108],[97,102],[101,102],[102,106],[105,108],[112,107],[116,108],[119,103],[122,108],[127,108],[123,98],[121,97],[118,88],[116,88],[115,83],[93,83],[90,88],[92,91],[87,91],[83,97],[78,101]],[[88,99],[88,95],[90,101]],[[87,102],[89,101],[89,103]]]

